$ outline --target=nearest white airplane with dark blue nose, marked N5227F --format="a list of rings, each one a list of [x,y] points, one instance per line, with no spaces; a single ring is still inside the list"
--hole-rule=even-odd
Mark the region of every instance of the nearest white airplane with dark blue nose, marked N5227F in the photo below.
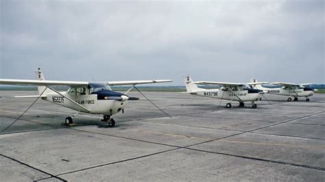
[[[36,71],[38,80],[27,79],[0,79],[0,84],[38,86],[38,95],[34,96],[15,96],[19,98],[41,98],[44,101],[56,103],[77,111],[73,116],[65,119],[66,125],[73,123],[73,118],[79,112],[88,114],[103,114],[104,120],[110,127],[115,126],[112,115],[124,112],[124,108],[130,99],[126,94],[138,84],[145,83],[164,83],[172,80],[142,80],[142,81],[107,81],[107,82],[88,82],[88,81],[47,81],[44,79],[40,68]],[[124,94],[113,92],[110,86],[132,86]],[[58,92],[51,86],[69,86],[66,92]]]

